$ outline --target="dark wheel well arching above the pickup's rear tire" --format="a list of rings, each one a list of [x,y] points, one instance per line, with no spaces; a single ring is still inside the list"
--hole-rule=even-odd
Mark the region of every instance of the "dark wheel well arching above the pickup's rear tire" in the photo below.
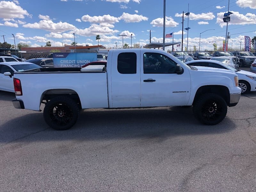
[[[72,89],[50,89],[50,90],[46,90],[45,92],[43,92],[43,94],[41,96],[41,103],[45,103],[45,102],[43,102],[43,100],[46,100],[46,102],[48,102],[49,100],[52,100],[53,98],[59,97],[59,96],[67,96],[67,97],[73,99],[78,104],[78,107],[80,109],[82,108],[81,101],[80,101],[80,98],[79,98],[77,92],[75,92]]]

